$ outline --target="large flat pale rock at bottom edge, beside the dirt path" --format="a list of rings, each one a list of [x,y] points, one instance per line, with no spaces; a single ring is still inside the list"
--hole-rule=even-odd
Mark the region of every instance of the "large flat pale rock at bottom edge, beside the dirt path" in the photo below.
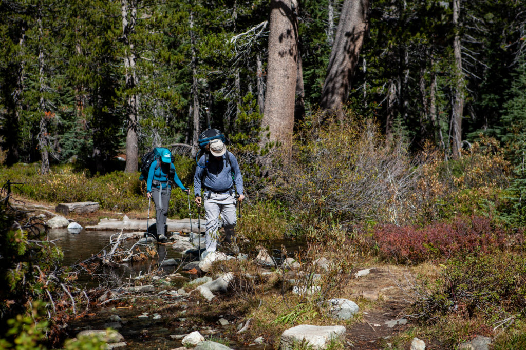
[[[281,334],[280,349],[289,350],[297,343],[306,342],[313,349],[325,349],[331,340],[345,336],[343,326],[312,326],[302,324]]]

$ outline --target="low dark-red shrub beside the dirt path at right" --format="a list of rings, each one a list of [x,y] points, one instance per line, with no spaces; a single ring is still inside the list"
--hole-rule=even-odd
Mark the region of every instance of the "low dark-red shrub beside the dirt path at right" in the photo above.
[[[379,225],[373,232],[380,255],[398,262],[419,262],[503,248],[511,236],[481,216],[456,218],[426,227]]]

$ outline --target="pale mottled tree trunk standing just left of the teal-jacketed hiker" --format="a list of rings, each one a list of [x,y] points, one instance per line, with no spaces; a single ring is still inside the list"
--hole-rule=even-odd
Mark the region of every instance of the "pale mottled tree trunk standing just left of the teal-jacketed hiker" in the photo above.
[[[126,173],[133,173],[138,168],[139,142],[137,137],[138,130],[138,108],[139,97],[133,89],[137,86],[137,76],[135,72],[135,52],[134,44],[130,40],[130,34],[135,30],[137,21],[137,6],[133,0],[121,0],[121,10],[123,18],[123,39],[126,46],[124,54],[124,67],[126,68],[126,115],[128,119],[128,129],[126,133]],[[128,21],[128,9],[131,9]]]

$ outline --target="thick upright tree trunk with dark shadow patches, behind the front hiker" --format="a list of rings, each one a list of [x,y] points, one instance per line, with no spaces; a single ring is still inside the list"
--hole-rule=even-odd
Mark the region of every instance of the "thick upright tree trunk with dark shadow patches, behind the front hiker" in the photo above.
[[[289,157],[298,75],[297,3],[271,0],[270,5],[267,92],[261,122],[264,129],[261,145],[280,142],[283,155]],[[268,131],[265,130],[267,128]]]

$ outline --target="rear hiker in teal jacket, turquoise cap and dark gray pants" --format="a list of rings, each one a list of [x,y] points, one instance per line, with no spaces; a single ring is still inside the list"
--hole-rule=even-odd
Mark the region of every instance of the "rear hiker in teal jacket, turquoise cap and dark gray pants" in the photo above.
[[[163,150],[160,158],[151,162],[146,183],[147,196],[148,198],[152,198],[155,203],[157,239],[161,239],[161,235],[165,233],[166,219],[168,217],[168,201],[170,200],[171,193],[169,179],[172,174],[174,175],[174,183],[179,186],[181,190],[188,193],[188,189],[181,183],[179,177],[177,177],[174,163],[171,162],[171,153],[168,150]]]

